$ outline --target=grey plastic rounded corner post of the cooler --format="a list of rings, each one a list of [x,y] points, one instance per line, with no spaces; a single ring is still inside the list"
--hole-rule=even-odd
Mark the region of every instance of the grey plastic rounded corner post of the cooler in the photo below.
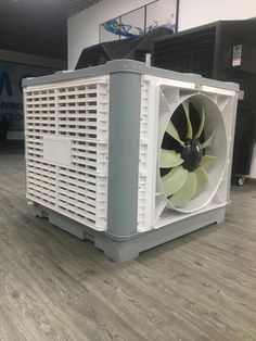
[[[137,232],[141,75],[111,73],[107,232]]]

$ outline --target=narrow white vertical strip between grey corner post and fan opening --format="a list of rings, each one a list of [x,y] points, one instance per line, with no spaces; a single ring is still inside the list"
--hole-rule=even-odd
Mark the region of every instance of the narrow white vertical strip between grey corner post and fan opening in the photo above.
[[[144,75],[141,83],[141,121],[138,189],[138,232],[154,228],[158,138],[157,78]]]

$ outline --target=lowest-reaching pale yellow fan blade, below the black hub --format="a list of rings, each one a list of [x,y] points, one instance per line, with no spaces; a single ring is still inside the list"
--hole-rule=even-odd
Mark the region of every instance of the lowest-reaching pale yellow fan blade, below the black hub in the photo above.
[[[190,200],[194,197],[196,190],[196,176],[194,172],[190,172],[184,185],[181,189],[176,192],[170,199],[169,202],[175,207],[184,207]]]

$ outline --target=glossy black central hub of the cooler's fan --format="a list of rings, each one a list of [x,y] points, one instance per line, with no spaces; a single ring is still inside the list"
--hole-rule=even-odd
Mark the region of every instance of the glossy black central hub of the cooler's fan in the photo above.
[[[197,139],[187,139],[184,148],[181,152],[181,157],[184,160],[182,166],[189,172],[194,171],[201,163],[203,156],[203,149]]]

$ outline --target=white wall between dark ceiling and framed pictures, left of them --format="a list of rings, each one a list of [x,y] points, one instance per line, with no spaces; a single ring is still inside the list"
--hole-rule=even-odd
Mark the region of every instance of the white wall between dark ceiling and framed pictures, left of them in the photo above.
[[[99,25],[138,9],[152,0],[103,0],[67,22],[68,68],[76,66],[84,48],[99,42]]]

